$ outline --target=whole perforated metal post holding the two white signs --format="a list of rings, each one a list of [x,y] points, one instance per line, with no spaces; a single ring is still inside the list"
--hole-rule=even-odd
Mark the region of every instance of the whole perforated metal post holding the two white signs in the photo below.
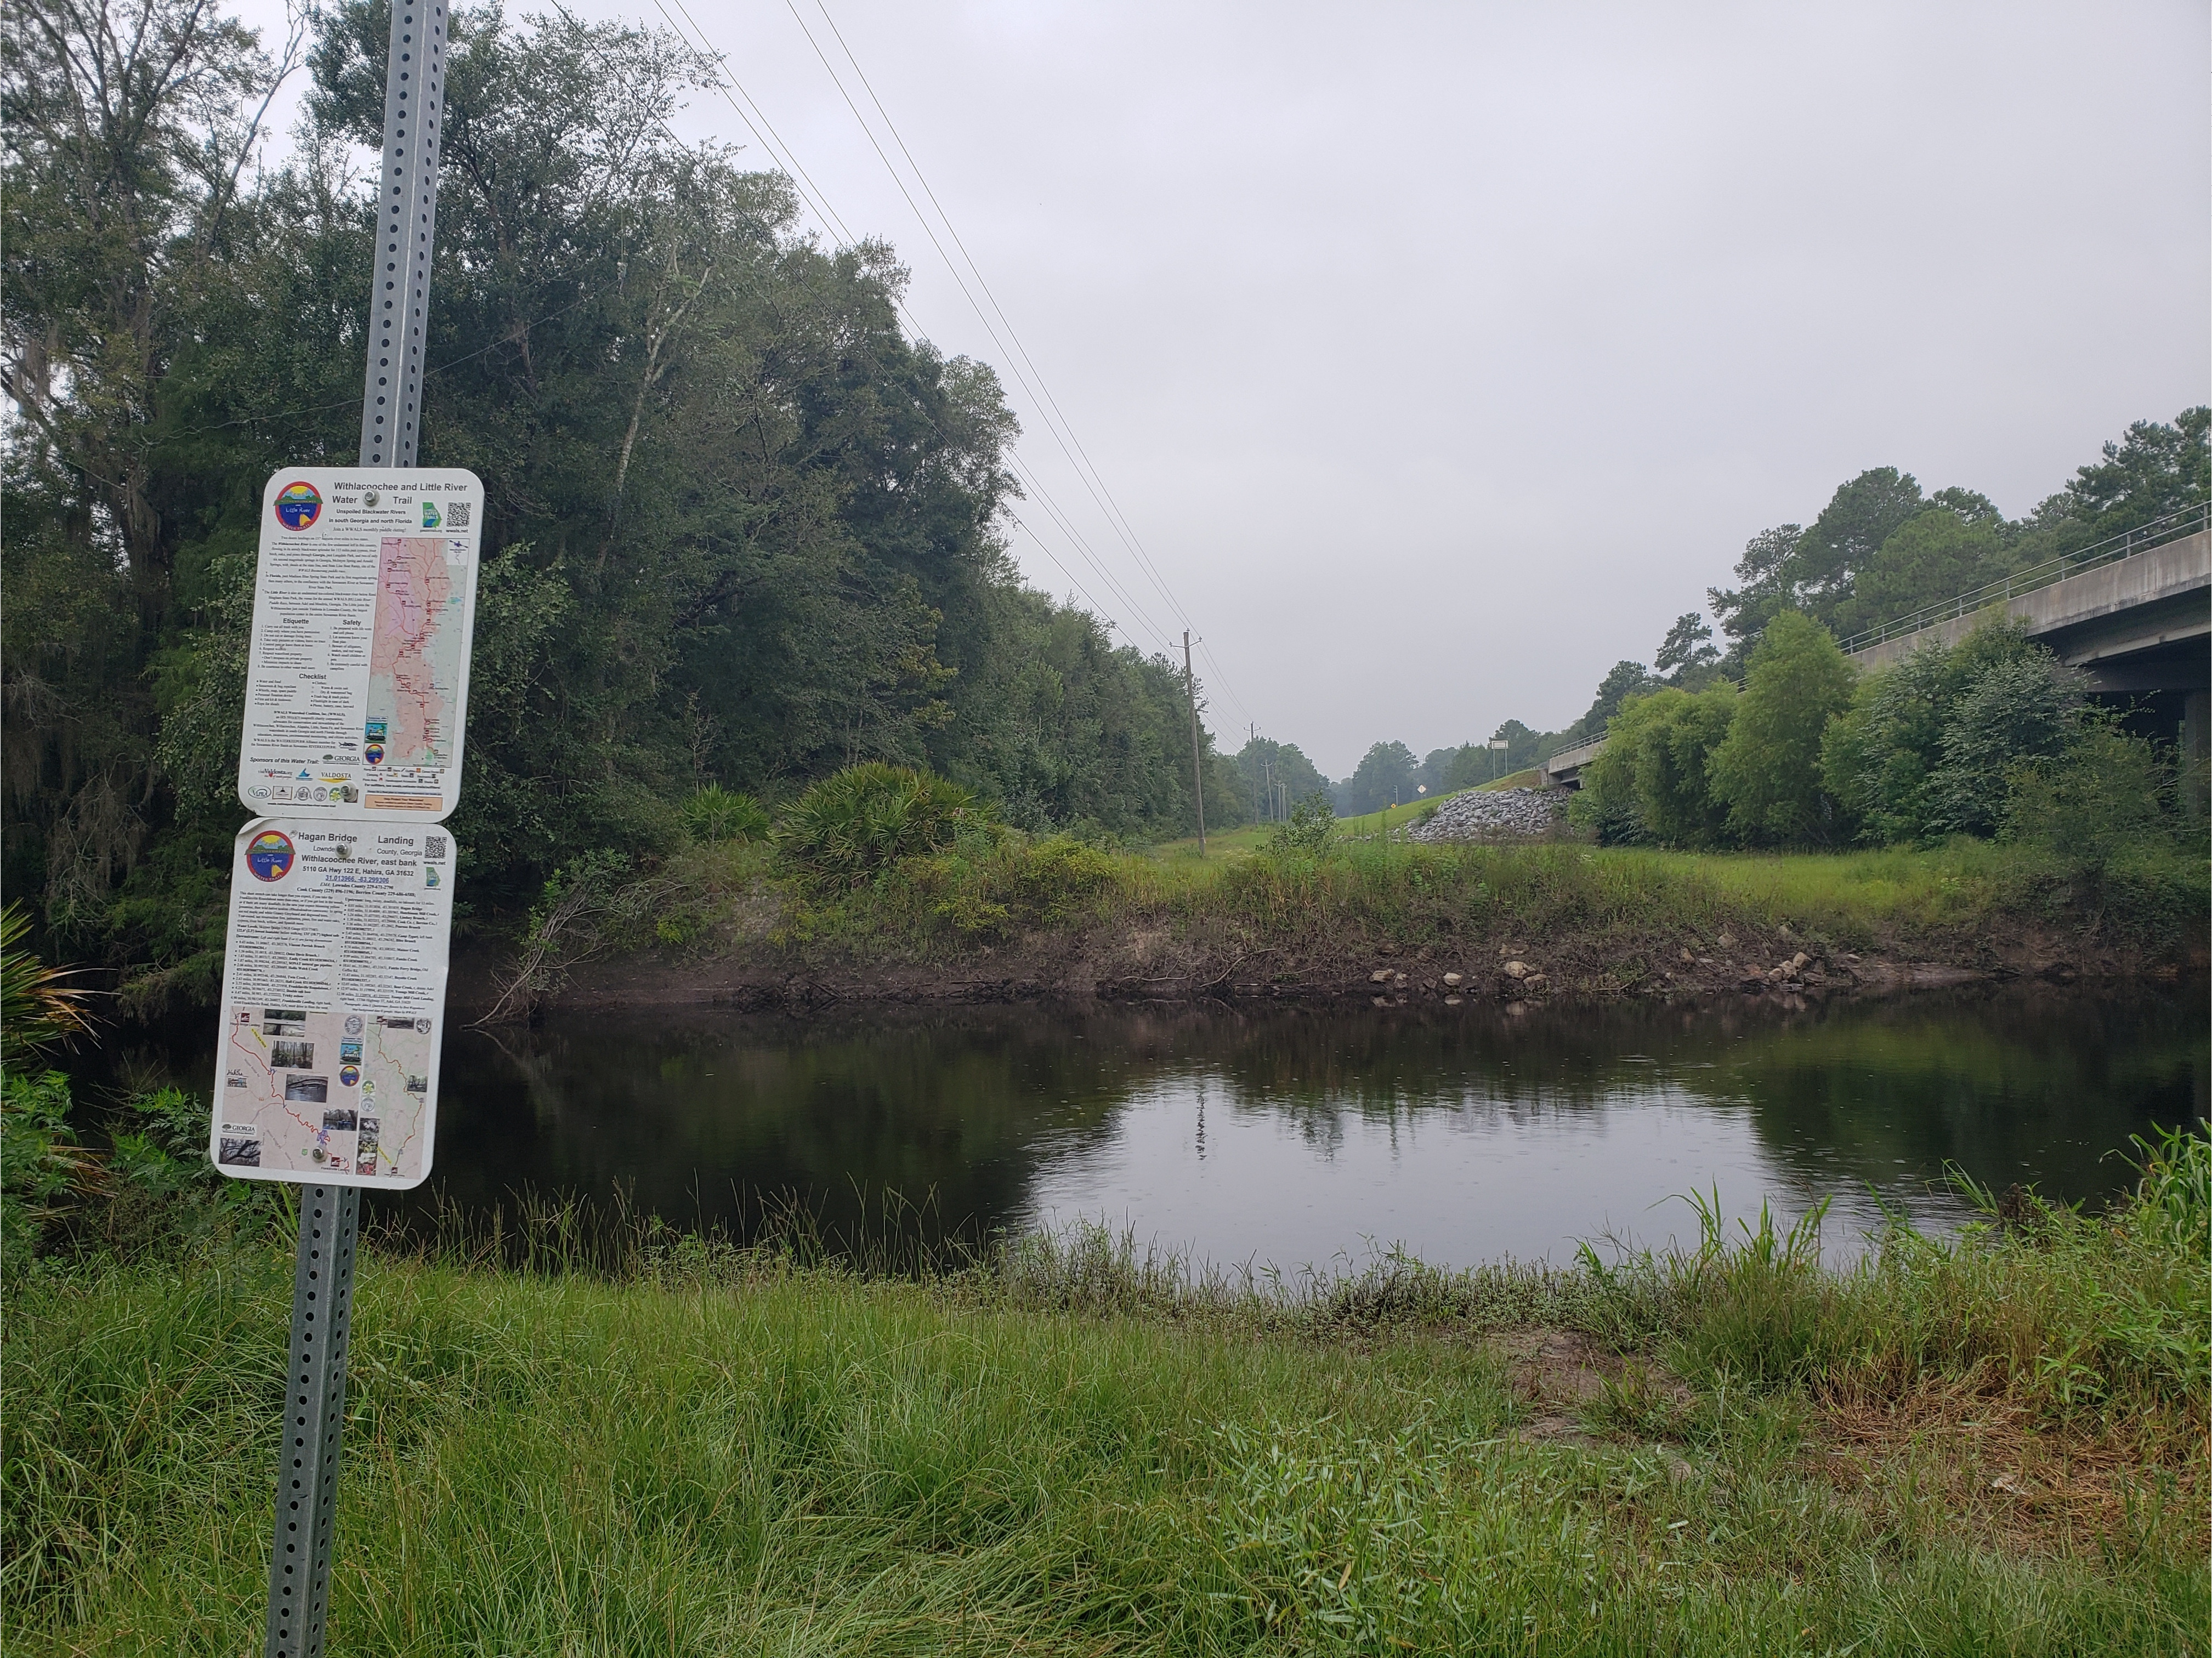
[[[363,466],[414,466],[422,427],[422,343],[438,210],[438,133],[445,122],[445,0],[394,0],[376,276],[361,391]],[[299,1187],[292,1364],[285,1371],[285,1433],[276,1468],[276,1536],[263,1647],[268,1658],[321,1658],[323,1651],[358,1229],[358,1185]]]

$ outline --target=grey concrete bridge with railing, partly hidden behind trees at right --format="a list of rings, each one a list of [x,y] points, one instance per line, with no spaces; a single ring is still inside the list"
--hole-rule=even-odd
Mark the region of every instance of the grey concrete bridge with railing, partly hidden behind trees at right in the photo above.
[[[2028,637],[2079,668],[2099,701],[2130,710],[2143,734],[2205,758],[2212,736],[2212,508],[2168,513],[2139,531],[1962,592],[1843,641],[1856,668],[1885,668],[1922,646],[1955,646],[1984,621],[2017,617]],[[1542,763],[1544,783],[1579,789],[1606,738]]]

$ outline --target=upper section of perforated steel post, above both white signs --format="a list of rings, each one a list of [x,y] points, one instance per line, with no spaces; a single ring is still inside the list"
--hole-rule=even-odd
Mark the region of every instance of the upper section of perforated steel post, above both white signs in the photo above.
[[[422,340],[442,128],[445,0],[392,0],[369,371],[361,391],[363,466],[414,466],[422,431]]]

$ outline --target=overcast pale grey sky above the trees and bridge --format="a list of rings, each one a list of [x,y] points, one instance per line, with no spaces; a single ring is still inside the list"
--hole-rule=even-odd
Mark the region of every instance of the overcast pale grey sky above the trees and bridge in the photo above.
[[[2201,0],[827,7],[1206,637],[1230,747],[1340,776],[1557,727],[1865,466],[2017,515],[2208,400]],[[785,0],[690,15],[898,243],[922,329],[1004,367]],[[686,128],[750,144],[712,97]],[[1179,637],[1009,391],[1150,623],[1022,517],[1124,637]]]

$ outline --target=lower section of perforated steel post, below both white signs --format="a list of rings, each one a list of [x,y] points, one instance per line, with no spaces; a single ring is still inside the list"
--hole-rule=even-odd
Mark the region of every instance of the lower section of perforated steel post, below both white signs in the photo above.
[[[330,1607],[330,1545],[338,1510],[338,1428],[345,1424],[345,1340],[354,1322],[354,1242],[361,1189],[299,1189],[292,1265],[292,1366],[285,1371],[276,1457],[276,1550],[270,1556],[268,1658],[321,1658]]]

